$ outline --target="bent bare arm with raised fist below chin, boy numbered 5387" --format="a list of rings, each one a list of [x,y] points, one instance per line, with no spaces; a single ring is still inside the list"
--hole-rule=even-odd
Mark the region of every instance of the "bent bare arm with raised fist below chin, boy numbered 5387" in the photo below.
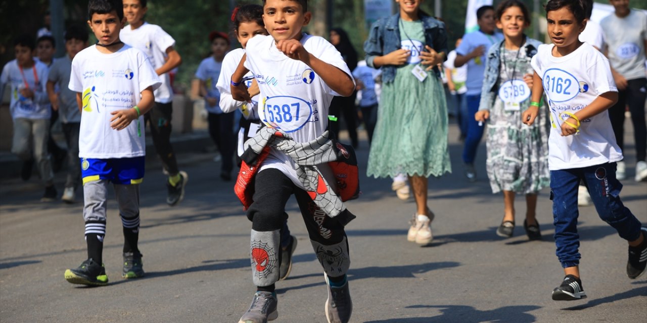
[[[311,67],[334,92],[341,96],[351,96],[355,91],[355,83],[351,76],[309,53],[303,48],[300,41],[296,39],[280,40],[276,43],[276,48],[287,57],[298,59]]]

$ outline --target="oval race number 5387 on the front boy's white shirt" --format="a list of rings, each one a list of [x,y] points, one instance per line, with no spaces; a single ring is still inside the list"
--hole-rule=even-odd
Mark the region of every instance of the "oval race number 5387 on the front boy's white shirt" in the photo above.
[[[262,113],[263,123],[285,132],[294,132],[310,121],[313,107],[301,98],[273,96],[265,99]]]

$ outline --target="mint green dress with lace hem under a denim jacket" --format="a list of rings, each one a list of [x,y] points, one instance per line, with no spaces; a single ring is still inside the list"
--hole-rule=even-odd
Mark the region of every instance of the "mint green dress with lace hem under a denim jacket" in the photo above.
[[[424,46],[421,21],[400,20],[399,26],[403,45],[412,39]],[[430,177],[452,172],[443,82],[433,70],[419,81],[411,74],[416,65],[421,64],[402,65],[396,70],[395,80],[382,85],[367,176]]]

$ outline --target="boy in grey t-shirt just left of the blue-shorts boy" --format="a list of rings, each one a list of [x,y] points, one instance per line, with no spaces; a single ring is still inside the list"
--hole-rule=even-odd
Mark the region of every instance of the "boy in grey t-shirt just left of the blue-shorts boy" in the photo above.
[[[87,31],[80,26],[71,26],[65,31],[65,51],[67,55],[56,59],[47,76],[47,94],[52,103],[52,110],[61,116],[61,127],[67,142],[67,180],[61,200],[74,202],[76,189],[81,180],[79,165],[79,131],[81,129],[81,111],[76,104],[76,93],[67,87],[72,72],[72,59],[83,48],[87,47]],[[55,88],[60,89],[56,92]]]

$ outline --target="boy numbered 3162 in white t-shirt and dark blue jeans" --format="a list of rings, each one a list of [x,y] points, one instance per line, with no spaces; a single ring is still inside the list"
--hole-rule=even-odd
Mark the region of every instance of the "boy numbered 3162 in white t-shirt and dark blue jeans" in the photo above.
[[[553,300],[577,300],[586,298],[578,253],[580,180],[600,218],[629,242],[627,275],[631,279],[644,273],[647,264],[647,228],[641,228],[641,222],[620,200],[622,184],[615,169],[622,152],[607,112],[618,94],[608,59],[578,39],[586,26],[582,3],[550,0],[545,10],[553,45],[541,45],[532,57],[532,102],[521,118],[527,125],[534,122],[545,91],[553,125],[548,147],[554,238],[565,274],[562,284],[553,290]]]

